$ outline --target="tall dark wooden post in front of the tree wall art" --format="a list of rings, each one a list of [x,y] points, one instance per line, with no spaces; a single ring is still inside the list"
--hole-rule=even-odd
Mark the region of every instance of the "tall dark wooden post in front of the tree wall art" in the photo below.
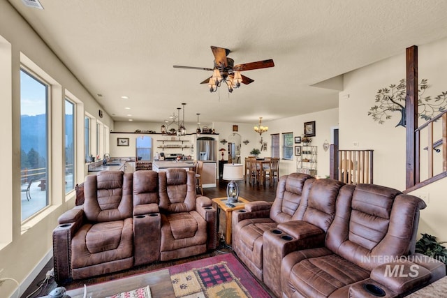
[[[418,128],[418,47],[413,45],[406,48],[406,188],[415,186],[419,182],[416,172],[415,131]]]

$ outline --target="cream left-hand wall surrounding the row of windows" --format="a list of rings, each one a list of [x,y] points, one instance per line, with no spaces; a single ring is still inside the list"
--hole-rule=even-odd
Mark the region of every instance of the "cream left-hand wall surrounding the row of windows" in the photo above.
[[[3,156],[0,186],[0,269],[1,277],[10,277],[21,283],[22,292],[26,290],[34,274],[52,251],[52,230],[57,218],[74,205],[74,195],[65,196],[64,191],[64,142],[63,114],[65,90],[82,100],[84,109],[90,114],[98,114],[101,108],[73,74],[62,64],[54,53],[29,27],[8,1],[0,1],[0,79],[2,108],[0,126],[3,128]],[[39,72],[55,81],[51,91],[51,146],[50,169],[51,206],[26,224],[21,221],[20,192],[20,66],[27,57]],[[27,62],[31,64],[31,62]],[[34,69],[33,69],[34,70]],[[41,75],[41,73],[39,73]],[[45,77],[45,76],[44,76]],[[110,128],[112,120],[108,114],[101,119]],[[76,142],[84,142],[83,131],[77,135]],[[83,159],[83,152],[78,152]],[[77,182],[84,179],[83,172]],[[49,184],[50,185],[50,184]],[[42,262],[41,262],[42,261]],[[11,281],[0,286],[0,297],[9,297],[17,290]],[[17,295],[17,294],[15,294]]]

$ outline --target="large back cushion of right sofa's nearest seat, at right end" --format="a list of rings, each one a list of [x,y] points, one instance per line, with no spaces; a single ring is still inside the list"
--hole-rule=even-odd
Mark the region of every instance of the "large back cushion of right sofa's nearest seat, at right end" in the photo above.
[[[359,184],[337,200],[326,246],[363,269],[390,262],[414,249],[419,209],[425,203],[385,186]]]

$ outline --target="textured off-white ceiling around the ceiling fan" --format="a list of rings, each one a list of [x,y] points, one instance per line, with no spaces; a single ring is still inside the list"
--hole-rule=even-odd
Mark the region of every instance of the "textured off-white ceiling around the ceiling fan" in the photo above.
[[[9,1],[116,121],[163,121],[181,103],[186,122],[330,109],[338,91],[312,84],[447,36],[444,0],[40,0],[45,10]],[[210,72],[173,68],[212,68],[210,45],[235,64],[275,66],[244,72],[254,82],[233,94],[210,94],[199,84]]]

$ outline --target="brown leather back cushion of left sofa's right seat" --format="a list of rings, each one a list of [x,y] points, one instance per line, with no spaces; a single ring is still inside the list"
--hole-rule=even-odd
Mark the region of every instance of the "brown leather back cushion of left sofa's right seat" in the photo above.
[[[196,209],[196,174],[184,169],[167,169],[159,172],[161,211],[189,212]]]

